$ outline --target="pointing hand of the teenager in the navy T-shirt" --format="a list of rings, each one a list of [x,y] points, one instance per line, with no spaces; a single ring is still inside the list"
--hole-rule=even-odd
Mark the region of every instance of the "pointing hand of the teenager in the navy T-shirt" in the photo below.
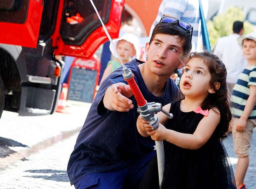
[[[132,100],[132,91],[129,85],[125,83],[116,83],[108,87],[103,97],[105,108],[109,110],[116,110],[119,112],[128,112],[134,107]]]

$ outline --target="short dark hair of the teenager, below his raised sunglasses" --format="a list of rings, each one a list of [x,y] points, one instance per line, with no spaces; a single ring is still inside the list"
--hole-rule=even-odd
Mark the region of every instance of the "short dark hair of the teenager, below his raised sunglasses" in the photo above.
[[[160,22],[158,24],[156,24],[149,44],[152,43],[154,37],[156,36],[156,34],[168,34],[168,35],[179,35],[180,37],[178,39],[180,39],[180,41],[182,41],[182,39],[184,39],[184,43],[183,43],[183,56],[186,57],[186,55],[188,55],[188,53],[190,53],[191,48],[192,48],[192,43],[191,43],[191,30],[184,30],[183,28],[181,28],[178,24],[178,22],[172,22],[172,23],[164,23],[164,22]]]

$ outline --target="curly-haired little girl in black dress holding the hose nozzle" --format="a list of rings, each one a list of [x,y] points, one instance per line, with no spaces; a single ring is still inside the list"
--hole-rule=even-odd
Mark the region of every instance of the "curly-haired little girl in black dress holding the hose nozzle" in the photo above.
[[[180,79],[184,99],[163,107],[173,118],[159,112],[159,128],[153,130],[139,116],[139,133],[164,141],[161,189],[236,189],[232,166],[220,141],[226,137],[231,120],[226,75],[216,55],[206,51],[191,53]],[[156,156],[141,188],[159,188]]]

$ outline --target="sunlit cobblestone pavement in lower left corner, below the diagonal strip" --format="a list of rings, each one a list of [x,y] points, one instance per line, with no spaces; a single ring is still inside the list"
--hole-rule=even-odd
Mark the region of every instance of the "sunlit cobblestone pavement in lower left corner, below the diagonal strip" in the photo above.
[[[1,189],[74,189],[66,173],[77,135],[17,161],[0,173]]]

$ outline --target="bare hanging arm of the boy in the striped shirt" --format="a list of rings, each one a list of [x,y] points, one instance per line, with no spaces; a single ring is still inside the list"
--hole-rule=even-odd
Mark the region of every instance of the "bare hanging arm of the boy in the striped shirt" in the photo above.
[[[246,125],[247,119],[250,116],[250,114],[252,113],[252,110],[255,106],[255,102],[256,102],[256,86],[250,85],[249,97],[246,101],[244,111],[242,113],[242,116],[236,122],[235,129],[238,132],[242,132],[245,130],[245,125]]]

